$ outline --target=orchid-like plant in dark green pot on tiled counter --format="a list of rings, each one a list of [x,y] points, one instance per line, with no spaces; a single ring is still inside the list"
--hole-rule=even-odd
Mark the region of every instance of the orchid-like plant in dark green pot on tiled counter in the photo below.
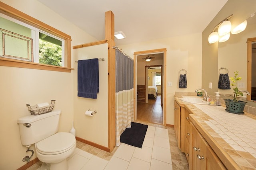
[[[234,90],[234,98],[231,99],[224,99],[226,104],[226,111],[229,113],[235,113],[235,114],[244,114],[244,106],[247,102],[238,100],[239,96],[243,96],[243,93],[240,92],[237,88],[237,82],[242,79],[242,77],[238,77],[238,71],[234,72],[235,76],[231,77],[230,80],[232,81],[231,86],[235,86],[233,88]]]

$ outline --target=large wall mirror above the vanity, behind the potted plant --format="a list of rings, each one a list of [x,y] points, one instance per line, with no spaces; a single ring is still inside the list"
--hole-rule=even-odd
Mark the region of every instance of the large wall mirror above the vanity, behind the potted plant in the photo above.
[[[256,88],[256,75],[254,72],[256,63],[256,44],[255,42],[251,42],[251,48],[247,49],[247,41],[248,38],[256,37],[256,15],[249,17],[247,19],[247,27],[244,31],[238,34],[230,35],[230,39],[223,43],[218,43],[218,69],[219,73],[227,73],[228,76],[234,77],[234,72],[237,70],[239,72],[239,77],[242,77],[240,80],[240,84],[238,85],[239,90],[247,90],[250,92],[250,96],[248,96],[248,100],[255,100],[253,90]],[[248,52],[247,52],[248,51]],[[247,53],[251,53],[251,61],[248,62]],[[247,64],[252,64],[252,66],[247,66]],[[226,68],[226,69],[220,69]],[[249,70],[247,70],[249,69]],[[247,74],[248,72],[248,74]],[[249,76],[249,77],[248,77]],[[248,89],[248,87],[250,89]],[[218,89],[220,94],[224,94],[224,96],[232,96],[234,86],[230,86],[230,90],[222,90]],[[244,93],[246,95],[246,93]],[[243,98],[243,100],[246,100]]]

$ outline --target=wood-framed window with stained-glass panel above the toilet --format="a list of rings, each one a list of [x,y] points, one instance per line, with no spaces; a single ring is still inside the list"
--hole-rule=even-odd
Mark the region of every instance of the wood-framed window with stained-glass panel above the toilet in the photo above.
[[[0,65],[71,72],[71,37],[2,2],[0,34]]]

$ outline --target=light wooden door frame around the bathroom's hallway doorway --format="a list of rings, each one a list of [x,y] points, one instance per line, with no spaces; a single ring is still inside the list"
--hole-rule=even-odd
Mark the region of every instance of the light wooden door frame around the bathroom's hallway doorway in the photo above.
[[[138,55],[148,55],[148,54],[164,54],[164,62],[163,62],[163,124],[166,126],[166,48],[164,49],[152,49],[147,51],[136,51],[134,52],[134,72],[133,72],[133,85],[134,85],[134,119],[137,119],[137,56]]]

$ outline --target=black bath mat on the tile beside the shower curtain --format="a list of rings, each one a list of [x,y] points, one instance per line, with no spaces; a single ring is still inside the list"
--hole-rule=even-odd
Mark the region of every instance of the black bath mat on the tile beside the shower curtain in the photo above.
[[[131,128],[126,128],[120,136],[121,142],[141,148],[148,125],[131,122]]]

